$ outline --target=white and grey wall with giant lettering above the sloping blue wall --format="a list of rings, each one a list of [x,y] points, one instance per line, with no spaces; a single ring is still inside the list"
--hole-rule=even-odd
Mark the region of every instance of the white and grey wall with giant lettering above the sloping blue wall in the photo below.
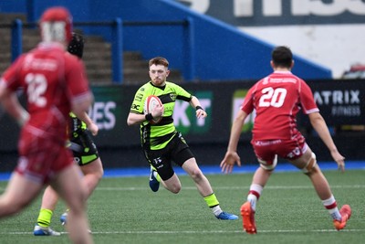
[[[175,0],[331,69],[334,79],[365,64],[361,0]]]

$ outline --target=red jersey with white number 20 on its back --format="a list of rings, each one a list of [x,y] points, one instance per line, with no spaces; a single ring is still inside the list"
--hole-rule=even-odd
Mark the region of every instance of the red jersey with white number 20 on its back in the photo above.
[[[256,112],[253,140],[292,139],[297,136],[297,112],[317,112],[308,84],[290,71],[276,71],[248,90],[241,107]]]

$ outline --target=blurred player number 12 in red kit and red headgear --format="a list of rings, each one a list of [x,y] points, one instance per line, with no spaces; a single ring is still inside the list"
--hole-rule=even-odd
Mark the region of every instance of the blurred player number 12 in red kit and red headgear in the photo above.
[[[0,81],[0,101],[22,126],[19,160],[0,197],[0,217],[18,213],[50,185],[69,207],[68,235],[73,243],[92,243],[85,213],[86,190],[67,143],[68,113],[77,116],[93,100],[85,68],[65,48],[72,16],[64,7],[48,8],[40,19],[42,42],[20,56]],[[16,99],[26,94],[27,111]]]

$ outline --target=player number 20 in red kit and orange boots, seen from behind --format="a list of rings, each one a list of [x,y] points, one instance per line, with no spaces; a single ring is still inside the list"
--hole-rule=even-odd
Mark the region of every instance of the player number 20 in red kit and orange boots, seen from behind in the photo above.
[[[308,175],[324,207],[333,218],[336,229],[346,226],[351,216],[351,208],[344,205],[340,210],[332,195],[326,177],[322,174],[305,138],[297,130],[296,115],[302,109],[321,140],[327,145],[339,169],[345,170],[344,157],[339,154],[328,132],[328,127],[320,115],[312,91],[304,80],[291,73],[294,65],[292,53],[287,47],[277,47],[272,52],[271,66],[274,72],[259,80],[248,91],[245,101],[233,123],[227,152],[221,163],[224,173],[231,173],[234,164],[241,165],[237,154],[237,144],[245,119],[256,111],[252,145],[260,167],[248,192],[247,201],[241,207],[243,226],[249,234],[256,233],[256,202],[262,194],[271,173],[275,170],[277,156],[287,159],[291,164]]]

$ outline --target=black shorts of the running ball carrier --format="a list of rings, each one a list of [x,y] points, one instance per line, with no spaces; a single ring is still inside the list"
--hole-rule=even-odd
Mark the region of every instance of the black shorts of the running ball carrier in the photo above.
[[[193,158],[182,133],[176,133],[170,143],[160,150],[144,150],[148,162],[157,170],[162,180],[168,180],[174,174],[172,162],[183,166],[186,160]]]

